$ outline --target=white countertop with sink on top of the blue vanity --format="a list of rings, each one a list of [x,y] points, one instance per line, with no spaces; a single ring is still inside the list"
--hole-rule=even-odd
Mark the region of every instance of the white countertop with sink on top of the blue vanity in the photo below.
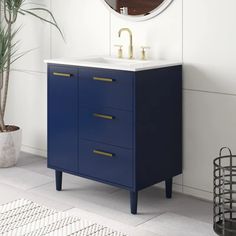
[[[93,56],[87,58],[58,58],[45,60],[48,64],[60,64],[82,67],[94,67],[113,70],[125,70],[125,71],[142,71],[157,69],[163,67],[182,65],[179,61],[169,60],[129,60],[129,59],[117,59],[108,56]]]

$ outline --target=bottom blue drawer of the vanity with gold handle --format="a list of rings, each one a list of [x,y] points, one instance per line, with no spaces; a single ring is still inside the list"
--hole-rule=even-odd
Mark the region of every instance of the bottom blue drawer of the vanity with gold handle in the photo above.
[[[79,172],[110,183],[132,187],[132,150],[80,140]]]

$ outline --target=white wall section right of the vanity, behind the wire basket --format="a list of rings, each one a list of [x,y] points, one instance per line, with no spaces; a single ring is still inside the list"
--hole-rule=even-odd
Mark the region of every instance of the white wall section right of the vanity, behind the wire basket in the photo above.
[[[211,198],[212,162],[236,153],[236,1],[183,0],[184,192]]]

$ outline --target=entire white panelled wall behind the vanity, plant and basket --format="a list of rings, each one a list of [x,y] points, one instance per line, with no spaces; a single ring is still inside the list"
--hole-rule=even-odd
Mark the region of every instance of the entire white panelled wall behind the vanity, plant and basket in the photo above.
[[[117,43],[127,53],[127,38],[117,32],[129,27],[136,58],[147,45],[151,58],[183,60],[184,173],[175,178],[175,190],[211,199],[213,158],[224,145],[236,153],[235,8],[235,0],[174,0],[154,19],[126,22],[100,0],[51,0],[66,43],[54,29],[25,18],[22,46],[39,49],[14,66],[10,84],[7,120],[23,127],[23,150],[46,155],[43,59],[114,55]]]

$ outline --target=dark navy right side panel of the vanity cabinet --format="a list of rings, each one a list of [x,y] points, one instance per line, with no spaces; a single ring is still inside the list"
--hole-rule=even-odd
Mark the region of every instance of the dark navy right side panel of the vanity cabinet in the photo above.
[[[182,66],[136,73],[136,189],[182,173]]]

